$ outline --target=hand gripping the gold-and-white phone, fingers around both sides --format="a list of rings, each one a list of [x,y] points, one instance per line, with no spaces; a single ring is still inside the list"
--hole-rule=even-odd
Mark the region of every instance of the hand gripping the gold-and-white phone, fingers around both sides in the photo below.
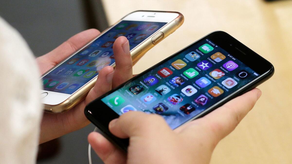
[[[72,36],[51,52],[38,57],[41,74],[57,65],[74,51],[84,46],[88,41],[95,38],[100,32],[96,29],[88,29]],[[121,83],[133,77],[132,58],[129,49],[129,42],[126,37],[116,39],[113,46],[116,68],[111,66],[100,70],[95,86],[89,91],[87,97],[69,111],[61,114],[44,113],[41,121],[41,134],[39,143],[55,139],[69,132],[78,130],[90,122],[84,115],[85,106],[111,90]]]

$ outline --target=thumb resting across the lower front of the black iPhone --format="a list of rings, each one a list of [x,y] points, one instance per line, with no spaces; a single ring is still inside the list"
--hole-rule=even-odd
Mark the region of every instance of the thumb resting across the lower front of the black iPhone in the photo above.
[[[110,132],[119,138],[151,137],[157,133],[171,133],[166,121],[157,114],[129,111],[109,123]]]

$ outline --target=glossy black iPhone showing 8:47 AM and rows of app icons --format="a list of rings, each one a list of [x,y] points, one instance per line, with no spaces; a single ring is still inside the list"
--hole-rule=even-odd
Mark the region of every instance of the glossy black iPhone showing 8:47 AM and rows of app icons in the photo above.
[[[159,114],[175,129],[269,79],[273,65],[229,34],[212,32],[88,104],[86,117],[125,151],[108,124],[128,111]]]

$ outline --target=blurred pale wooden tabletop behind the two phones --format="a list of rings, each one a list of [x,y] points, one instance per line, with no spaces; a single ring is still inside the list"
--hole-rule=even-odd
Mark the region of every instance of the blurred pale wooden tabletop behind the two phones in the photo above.
[[[262,97],[216,147],[211,163],[292,163],[292,1],[103,0],[109,23],[135,10],[179,11],[184,24],[133,67],[151,67],[206,34],[225,31],[275,66]],[[155,60],[153,60],[155,59]]]

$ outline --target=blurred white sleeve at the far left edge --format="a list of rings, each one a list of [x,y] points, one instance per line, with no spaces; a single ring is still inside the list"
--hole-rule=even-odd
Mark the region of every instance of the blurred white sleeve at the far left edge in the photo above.
[[[0,163],[36,163],[39,76],[27,43],[0,17]]]

